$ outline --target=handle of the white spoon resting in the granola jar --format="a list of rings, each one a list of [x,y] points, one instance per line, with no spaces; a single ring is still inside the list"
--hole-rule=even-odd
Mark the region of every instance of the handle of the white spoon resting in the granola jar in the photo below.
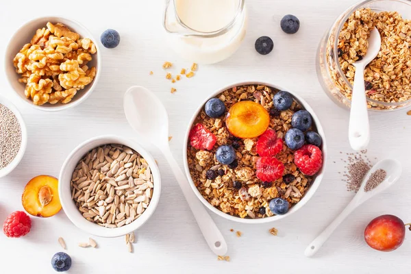
[[[365,96],[364,67],[361,65],[356,66],[354,76],[348,135],[349,144],[356,151],[366,149],[369,144],[370,125]]]

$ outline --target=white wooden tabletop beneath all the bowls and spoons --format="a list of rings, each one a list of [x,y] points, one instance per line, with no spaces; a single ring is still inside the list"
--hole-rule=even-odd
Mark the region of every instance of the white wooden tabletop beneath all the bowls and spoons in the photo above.
[[[129,86],[153,90],[166,105],[170,116],[171,148],[182,165],[186,126],[197,105],[221,86],[243,80],[264,80],[299,92],[316,111],[327,135],[329,165],[318,191],[299,212],[266,225],[240,225],[212,214],[229,245],[231,262],[220,262],[212,253],[195,223],[171,170],[151,148],[162,175],[162,197],[151,219],[136,232],[134,253],[127,253],[123,238],[95,238],[98,249],[82,249],[87,240],[64,212],[49,219],[32,218],[32,231],[24,238],[6,238],[0,233],[1,273],[55,273],[51,256],[62,251],[58,237],[68,245],[73,258],[70,273],[409,273],[411,232],[397,251],[382,253],[363,240],[366,224],[375,216],[395,214],[411,221],[410,137],[411,116],[406,110],[371,113],[371,145],[374,158],[397,158],[405,167],[396,186],[371,199],[354,212],[317,253],[305,258],[310,241],[342,210],[353,193],[345,190],[338,171],[343,170],[340,151],[351,152],[347,142],[349,112],[338,108],[325,95],[315,73],[319,40],[336,16],[356,0],[249,0],[249,29],[240,49],[231,58],[215,65],[199,66],[191,79],[175,84],[165,79],[162,63],[170,61],[175,70],[190,66],[167,48],[162,29],[163,1],[2,1],[0,4],[0,62],[6,41],[25,21],[36,16],[65,16],[83,23],[99,38],[105,29],[121,34],[116,49],[101,47],[101,79],[92,95],[71,110],[47,113],[18,101],[0,73],[1,95],[9,97],[23,113],[28,129],[27,151],[21,164],[0,179],[0,221],[15,210],[23,210],[21,194],[25,184],[40,174],[58,177],[60,166],[71,150],[100,134],[133,138],[123,114],[123,94]],[[286,35],[279,27],[284,14],[301,21],[298,34]],[[259,55],[254,42],[271,36],[275,47]],[[154,74],[149,76],[149,71]],[[334,161],[336,163],[334,163]],[[277,227],[278,236],[269,228]],[[229,229],[242,232],[240,238]],[[18,267],[18,269],[15,269]],[[14,269],[12,269],[14,268]],[[6,271],[8,270],[8,271]],[[11,272],[12,271],[12,272]]]

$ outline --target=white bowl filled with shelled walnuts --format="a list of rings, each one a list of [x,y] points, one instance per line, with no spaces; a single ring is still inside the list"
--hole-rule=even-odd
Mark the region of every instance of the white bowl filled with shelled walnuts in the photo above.
[[[86,100],[101,72],[99,45],[88,29],[55,16],[36,18],[17,29],[4,59],[18,98],[49,112]]]

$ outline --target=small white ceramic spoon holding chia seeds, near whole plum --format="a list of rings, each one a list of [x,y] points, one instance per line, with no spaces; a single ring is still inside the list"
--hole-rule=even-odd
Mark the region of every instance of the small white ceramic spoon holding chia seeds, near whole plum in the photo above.
[[[386,171],[386,178],[376,188],[370,190],[369,192],[365,192],[364,187],[366,185],[366,182],[371,176],[371,173],[375,172],[377,169],[384,169],[384,171]],[[343,212],[341,212],[340,215],[338,215],[338,217],[334,219],[334,221],[332,221],[332,223],[330,223],[328,227],[324,229],[324,231],[310,243],[310,245],[308,245],[305,255],[307,257],[314,256],[314,254],[319,251],[319,249],[323,246],[324,242],[329,238],[329,236],[331,236],[334,230],[340,225],[340,223],[343,223],[345,218],[347,218],[347,216],[351,212],[353,212],[353,210],[364,203],[364,201],[367,201],[374,195],[377,195],[379,192],[382,192],[392,186],[401,176],[401,172],[401,163],[398,160],[386,159],[377,162],[377,164],[375,164],[375,166],[373,166],[371,170],[365,175],[360,189],[358,190],[356,196],[354,196],[354,198],[348,204],[347,208],[345,208],[345,210],[343,210]]]

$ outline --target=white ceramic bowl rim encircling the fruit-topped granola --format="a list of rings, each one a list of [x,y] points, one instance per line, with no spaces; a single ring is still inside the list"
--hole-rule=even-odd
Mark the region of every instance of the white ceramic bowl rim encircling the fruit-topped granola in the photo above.
[[[208,97],[205,101],[203,101],[203,103],[201,103],[199,105],[199,108],[197,108],[197,111],[192,116],[192,119],[191,119],[190,123],[188,124],[186,137],[184,138],[184,140],[185,140],[185,142],[184,142],[184,151],[183,151],[184,169],[185,169],[186,175],[188,177],[188,182],[190,182],[190,186],[191,186],[192,190],[195,192],[195,195],[197,195],[197,197],[204,204],[204,206],[206,206],[209,210],[211,210],[215,214],[217,214],[219,216],[222,216],[225,219],[235,221],[235,222],[238,222],[238,223],[269,223],[269,222],[272,222],[272,221],[277,221],[279,219],[283,219],[286,216],[290,216],[290,214],[292,214],[292,213],[296,212],[297,210],[299,210],[300,208],[302,208],[308,202],[308,200],[311,199],[312,195],[314,195],[314,192],[319,187],[319,185],[321,183],[321,179],[323,179],[324,168],[325,168],[325,164],[327,163],[327,146],[325,145],[325,135],[324,135],[324,132],[323,132],[323,127],[321,127],[321,123],[320,123],[318,117],[316,116],[316,114],[314,113],[314,110],[312,110],[310,105],[308,105],[308,103],[306,101],[304,101],[301,97],[299,97],[299,95],[297,95],[295,92],[287,90],[288,92],[290,92],[292,94],[294,99],[303,106],[304,109],[306,109],[308,112],[310,112],[310,114],[312,116],[312,119],[314,121],[314,124],[316,125],[317,131],[318,131],[319,135],[321,136],[321,138],[323,139],[323,145],[322,145],[322,149],[321,149],[321,151],[323,152],[323,167],[321,168],[319,173],[316,174],[316,178],[312,182],[310,188],[307,190],[307,192],[305,193],[305,195],[303,196],[301,201],[299,201],[299,203],[292,206],[292,208],[290,208],[290,210],[288,210],[287,214],[275,215],[275,216],[266,217],[266,218],[262,218],[262,219],[242,219],[242,218],[237,217],[237,216],[232,216],[230,214],[226,214],[226,213],[222,212],[221,210],[218,210],[217,208],[214,208],[214,206],[212,206],[210,203],[208,203],[208,201],[201,195],[199,190],[197,190],[197,187],[195,186],[194,182],[192,182],[192,178],[190,176],[190,169],[188,169],[188,162],[187,162],[188,134],[190,134],[190,129],[192,128],[192,124],[194,123],[194,121],[195,121],[197,115],[199,114],[199,112],[201,112],[201,110],[203,109],[203,107],[206,104],[206,102],[208,101],[208,99],[210,99],[212,97],[216,97],[216,95],[219,95],[224,90],[227,90],[229,88],[233,88],[234,86],[243,86],[243,85],[248,85],[248,84],[261,84],[261,85],[265,85],[265,86],[271,86],[271,87],[277,88],[279,90],[287,90],[287,89],[284,89],[284,88],[280,88],[279,86],[275,86],[273,84],[256,81],[256,82],[241,82],[241,83],[232,84],[232,85],[229,85],[229,86],[225,86],[224,88],[221,88],[221,89],[217,90],[216,92],[214,92],[210,97]]]

